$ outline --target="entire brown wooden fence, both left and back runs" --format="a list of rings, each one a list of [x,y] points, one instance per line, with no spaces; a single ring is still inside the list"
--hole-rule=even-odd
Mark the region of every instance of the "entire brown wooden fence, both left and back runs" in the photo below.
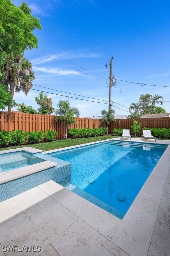
[[[137,118],[139,123],[142,124],[142,128],[170,128],[170,117],[161,118]],[[91,118],[76,118],[76,124],[71,124],[68,129],[78,128],[100,128],[102,121],[100,119]],[[117,119],[116,122],[111,122],[109,125],[109,133],[112,134],[114,128],[130,129],[133,119]],[[0,130],[12,131],[44,131],[46,129],[54,130],[58,133],[57,138],[64,138],[65,123],[56,122],[53,115],[39,115],[39,114],[25,114],[20,112],[0,112]],[[137,135],[141,135],[138,133]]]

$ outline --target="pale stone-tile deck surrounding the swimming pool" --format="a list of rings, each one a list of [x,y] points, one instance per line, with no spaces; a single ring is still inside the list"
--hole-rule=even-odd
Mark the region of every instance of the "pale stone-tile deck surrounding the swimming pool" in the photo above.
[[[117,138],[120,140],[120,138]],[[128,139],[123,139],[127,141]],[[145,139],[132,141],[145,142]],[[153,140],[147,140],[153,142]],[[155,143],[155,142],[154,142]],[[169,140],[157,143],[170,144]],[[48,181],[0,203],[1,255],[169,256],[170,146],[123,220]]]

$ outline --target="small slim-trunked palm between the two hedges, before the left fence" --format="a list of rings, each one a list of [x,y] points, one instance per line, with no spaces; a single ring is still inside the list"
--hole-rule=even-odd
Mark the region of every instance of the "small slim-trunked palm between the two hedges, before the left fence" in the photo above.
[[[58,107],[55,111],[56,121],[65,122],[65,139],[67,139],[68,124],[76,124],[74,115],[79,117],[80,111],[76,107],[71,107],[68,100],[59,100],[56,106]]]

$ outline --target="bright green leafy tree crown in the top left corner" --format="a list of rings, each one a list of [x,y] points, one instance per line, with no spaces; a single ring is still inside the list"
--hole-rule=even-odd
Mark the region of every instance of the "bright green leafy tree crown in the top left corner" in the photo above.
[[[0,1],[0,52],[21,55],[27,49],[38,48],[35,28],[41,29],[40,19],[31,14],[26,2],[20,7],[10,0]]]

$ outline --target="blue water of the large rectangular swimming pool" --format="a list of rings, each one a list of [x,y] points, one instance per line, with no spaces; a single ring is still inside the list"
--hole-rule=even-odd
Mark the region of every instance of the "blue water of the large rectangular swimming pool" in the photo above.
[[[48,155],[72,164],[61,185],[122,219],[166,147],[109,141]]]

